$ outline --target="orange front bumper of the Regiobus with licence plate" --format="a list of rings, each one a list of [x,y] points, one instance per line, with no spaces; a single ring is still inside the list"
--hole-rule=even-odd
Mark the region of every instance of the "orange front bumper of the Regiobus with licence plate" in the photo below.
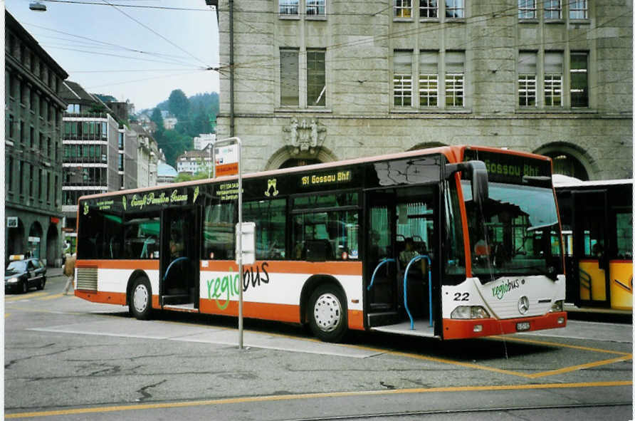
[[[505,335],[508,333],[540,331],[542,329],[564,328],[567,313],[547,313],[544,316],[506,318],[444,318],[444,339],[478,338],[480,336]]]

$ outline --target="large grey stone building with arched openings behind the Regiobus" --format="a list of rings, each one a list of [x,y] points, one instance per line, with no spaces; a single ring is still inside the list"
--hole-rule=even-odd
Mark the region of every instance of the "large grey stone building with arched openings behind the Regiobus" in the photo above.
[[[230,22],[231,4],[216,132],[246,171],[475,144],[631,177],[630,1],[248,0]]]

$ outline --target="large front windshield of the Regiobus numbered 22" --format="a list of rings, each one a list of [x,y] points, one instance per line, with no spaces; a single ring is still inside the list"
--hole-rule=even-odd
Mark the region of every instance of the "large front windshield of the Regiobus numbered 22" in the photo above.
[[[470,182],[462,181],[472,254],[472,273],[481,282],[500,276],[562,274],[560,226],[553,190],[490,182],[478,209]]]

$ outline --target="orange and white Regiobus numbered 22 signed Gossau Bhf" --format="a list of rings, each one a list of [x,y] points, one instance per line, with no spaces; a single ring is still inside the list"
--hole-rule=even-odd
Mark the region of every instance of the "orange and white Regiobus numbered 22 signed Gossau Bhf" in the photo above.
[[[547,157],[438,147],[243,177],[256,262],[238,274],[236,177],[81,197],[75,296],[441,339],[563,327]]]

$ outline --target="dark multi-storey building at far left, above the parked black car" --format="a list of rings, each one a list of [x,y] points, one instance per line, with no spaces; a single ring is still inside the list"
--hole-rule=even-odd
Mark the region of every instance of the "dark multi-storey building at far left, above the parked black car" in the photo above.
[[[29,251],[60,265],[60,88],[68,73],[8,11],[4,19],[5,259]]]

